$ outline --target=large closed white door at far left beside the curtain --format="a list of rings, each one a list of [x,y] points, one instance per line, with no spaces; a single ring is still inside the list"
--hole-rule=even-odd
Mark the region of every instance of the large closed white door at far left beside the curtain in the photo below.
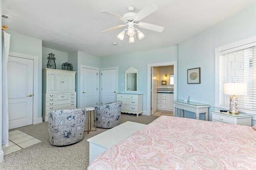
[[[33,123],[33,65],[33,60],[9,56],[7,66],[9,129]]]

